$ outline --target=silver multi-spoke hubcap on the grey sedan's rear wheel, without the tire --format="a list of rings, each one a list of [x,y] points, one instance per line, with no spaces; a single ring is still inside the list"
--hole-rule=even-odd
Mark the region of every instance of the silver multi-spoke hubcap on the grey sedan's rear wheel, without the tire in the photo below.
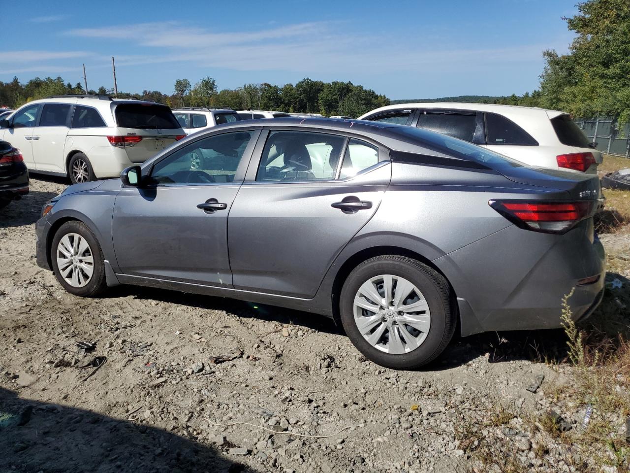
[[[390,354],[415,350],[431,327],[431,313],[420,290],[392,274],[362,284],[355,295],[354,318],[369,344]]]

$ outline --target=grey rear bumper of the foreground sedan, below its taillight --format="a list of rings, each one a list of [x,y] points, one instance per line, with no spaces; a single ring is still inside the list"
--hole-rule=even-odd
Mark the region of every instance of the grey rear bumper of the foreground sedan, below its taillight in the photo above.
[[[561,303],[574,320],[599,305],[604,289],[604,247],[585,221],[565,235],[508,227],[435,260],[458,298],[461,333],[561,327]],[[598,276],[591,284],[580,279]]]

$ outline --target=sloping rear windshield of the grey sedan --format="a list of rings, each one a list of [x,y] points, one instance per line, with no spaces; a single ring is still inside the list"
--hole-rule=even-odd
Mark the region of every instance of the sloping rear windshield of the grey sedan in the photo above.
[[[468,143],[462,139],[446,136],[427,129],[400,126],[391,127],[392,131],[400,136],[403,141],[418,144],[425,148],[434,149],[445,155],[453,156],[461,160],[474,161],[493,169],[516,168],[524,166],[523,163],[507,156],[500,155],[476,144]]]

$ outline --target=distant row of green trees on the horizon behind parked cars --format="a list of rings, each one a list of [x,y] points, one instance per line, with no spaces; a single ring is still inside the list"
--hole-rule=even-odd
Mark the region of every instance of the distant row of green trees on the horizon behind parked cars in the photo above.
[[[0,81],[0,105],[17,108],[30,100],[51,95],[84,94],[81,83],[72,85],[64,79],[35,78],[25,84],[18,78]],[[113,94],[112,89],[99,87],[88,93]],[[289,113],[348,115],[358,117],[377,107],[389,105],[389,98],[378,95],[352,82],[323,82],[306,78],[295,85],[283,86],[269,83],[245,84],[236,89],[217,90],[217,82],[206,76],[194,86],[188,79],[177,79],[173,93],[143,90],[142,93],[118,91],[118,98],[135,97],[177,107],[231,107],[234,110],[278,110]]]

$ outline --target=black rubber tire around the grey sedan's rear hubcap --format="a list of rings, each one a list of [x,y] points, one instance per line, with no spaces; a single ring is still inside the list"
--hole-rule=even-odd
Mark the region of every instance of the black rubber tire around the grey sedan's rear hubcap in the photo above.
[[[420,346],[402,354],[385,353],[372,346],[354,320],[354,300],[358,289],[370,278],[384,274],[404,277],[423,294],[430,310],[430,328]],[[413,370],[437,358],[452,338],[457,312],[448,281],[442,274],[420,261],[396,255],[371,258],[357,266],[347,277],[340,295],[341,324],[350,341],[364,356],[378,365],[394,370]]]

